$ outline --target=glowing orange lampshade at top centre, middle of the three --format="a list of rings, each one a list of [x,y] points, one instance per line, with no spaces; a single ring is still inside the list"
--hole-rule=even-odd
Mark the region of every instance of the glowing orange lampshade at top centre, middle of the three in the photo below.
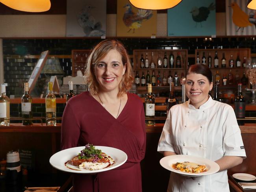
[[[178,5],[182,0],[129,0],[130,3],[139,9],[170,9]]]

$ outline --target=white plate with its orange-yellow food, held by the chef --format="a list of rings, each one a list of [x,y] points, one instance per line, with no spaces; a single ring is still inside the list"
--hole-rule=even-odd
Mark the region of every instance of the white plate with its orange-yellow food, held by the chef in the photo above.
[[[186,162],[189,162],[189,163],[186,163]],[[163,157],[160,160],[160,164],[163,168],[171,172],[175,172],[178,174],[191,176],[191,177],[198,177],[201,175],[210,175],[219,171],[219,165],[216,162],[211,161],[210,159],[196,157],[193,155],[170,155],[167,157]],[[177,165],[178,167],[183,167],[183,168],[181,168],[181,170],[176,169]]]

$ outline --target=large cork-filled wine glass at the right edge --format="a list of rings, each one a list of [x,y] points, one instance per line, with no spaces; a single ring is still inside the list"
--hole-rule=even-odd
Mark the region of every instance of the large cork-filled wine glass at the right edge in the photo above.
[[[248,59],[246,65],[246,74],[249,79],[250,84],[252,85],[252,104],[255,104],[255,90],[256,90],[256,58]]]

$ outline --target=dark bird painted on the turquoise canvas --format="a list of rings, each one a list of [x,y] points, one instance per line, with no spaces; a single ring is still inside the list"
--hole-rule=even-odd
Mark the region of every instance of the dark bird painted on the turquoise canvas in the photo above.
[[[190,13],[192,13],[192,18],[196,22],[195,27],[197,27],[197,23],[200,23],[202,27],[202,22],[207,20],[210,11],[213,11],[214,9],[214,3],[211,3],[209,7],[193,7]]]

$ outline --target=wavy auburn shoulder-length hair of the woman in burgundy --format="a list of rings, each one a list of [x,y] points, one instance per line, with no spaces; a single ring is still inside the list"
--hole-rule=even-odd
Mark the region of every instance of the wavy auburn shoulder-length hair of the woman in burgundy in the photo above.
[[[95,74],[93,72],[96,66],[95,64],[98,63],[100,59],[105,57],[110,50],[117,50],[121,54],[122,64],[126,65],[126,70],[119,84],[119,92],[117,96],[121,96],[132,87],[134,81],[134,71],[132,69],[130,58],[126,49],[124,48],[124,45],[115,39],[105,39],[104,41],[99,42],[93,48],[86,62],[86,69],[84,73],[85,82],[89,87],[90,93],[93,95],[98,94],[99,90],[98,81],[96,80]]]

